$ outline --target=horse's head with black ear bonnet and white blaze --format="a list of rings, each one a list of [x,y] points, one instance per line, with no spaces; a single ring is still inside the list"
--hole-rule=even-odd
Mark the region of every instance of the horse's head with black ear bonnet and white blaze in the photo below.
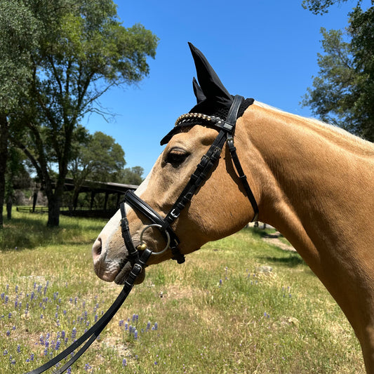
[[[94,268],[105,281],[126,281],[132,268],[129,246],[141,251],[143,244],[154,253],[162,252],[152,255],[148,264],[170,258],[183,262],[184,255],[207,241],[238,231],[258,213],[259,188],[247,171],[252,192],[243,182],[243,171],[238,175],[233,163],[234,131],[236,144],[244,143],[247,135],[240,121],[253,99],[230,95],[201,51],[192,44],[189,47],[199,80],[198,84],[193,79],[196,105],[180,116],[173,130],[161,140],[166,148],[135,194],[126,198],[122,215],[126,212],[130,243],[123,242],[120,210],[95,241]],[[182,204],[178,214],[175,203]],[[168,249],[166,241],[170,237],[173,245]]]

